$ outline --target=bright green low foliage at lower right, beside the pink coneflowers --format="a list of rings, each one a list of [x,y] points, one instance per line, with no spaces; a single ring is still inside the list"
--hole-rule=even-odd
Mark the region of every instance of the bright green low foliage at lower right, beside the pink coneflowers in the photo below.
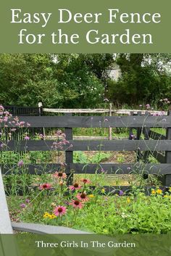
[[[77,218],[77,227],[98,234],[164,234],[171,231],[170,199],[145,197],[103,197],[84,208]],[[151,211],[152,209],[152,211]]]

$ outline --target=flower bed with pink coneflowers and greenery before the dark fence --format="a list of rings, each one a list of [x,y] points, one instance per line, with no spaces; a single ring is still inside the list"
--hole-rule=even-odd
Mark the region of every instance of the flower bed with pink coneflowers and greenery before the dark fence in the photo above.
[[[55,185],[43,183],[30,197],[9,197],[12,218],[97,234],[165,234],[171,230],[171,188],[165,194],[152,189],[148,197],[138,189],[109,196],[100,187],[92,192],[87,179],[67,187],[64,176],[57,172],[52,177]]]

